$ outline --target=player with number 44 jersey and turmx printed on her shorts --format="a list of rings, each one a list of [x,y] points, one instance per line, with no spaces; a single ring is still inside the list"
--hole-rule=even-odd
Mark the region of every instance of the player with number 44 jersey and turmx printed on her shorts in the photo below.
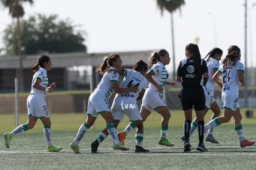
[[[133,122],[133,124],[137,127],[137,132],[135,135],[135,153],[148,152],[148,150],[145,150],[142,147],[143,122],[137,106],[137,100],[142,100],[145,89],[147,88],[147,79],[144,77],[147,70],[147,63],[143,62],[142,60],[137,61],[133,69],[114,70],[119,74],[124,75],[120,88],[130,87],[131,85],[138,87],[138,91],[136,92],[117,93],[111,107],[116,128],[119,122],[124,119],[125,115],[127,115],[130,122]],[[104,129],[99,137],[92,143],[92,153],[97,153],[99,143],[101,143],[107,135],[108,131]]]

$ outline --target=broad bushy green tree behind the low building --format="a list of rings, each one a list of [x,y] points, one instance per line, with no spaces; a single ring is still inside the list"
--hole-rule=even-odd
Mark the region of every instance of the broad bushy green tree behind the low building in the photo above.
[[[67,20],[57,21],[57,15],[37,14],[20,22],[23,54],[87,52],[83,45],[85,32],[75,30]],[[12,24],[4,30],[6,55],[17,54],[14,43],[17,32]]]

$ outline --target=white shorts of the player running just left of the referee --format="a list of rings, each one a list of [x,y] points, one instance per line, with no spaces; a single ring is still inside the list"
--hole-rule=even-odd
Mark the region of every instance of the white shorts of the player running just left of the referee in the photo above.
[[[145,91],[145,94],[142,98],[141,108],[146,108],[149,111],[153,111],[153,109],[161,108],[163,106],[166,106],[166,103],[163,99],[163,93],[153,90]]]

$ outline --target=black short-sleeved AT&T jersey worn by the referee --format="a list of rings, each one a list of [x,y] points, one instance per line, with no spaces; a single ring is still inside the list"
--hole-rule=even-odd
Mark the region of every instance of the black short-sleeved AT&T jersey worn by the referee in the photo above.
[[[206,62],[201,59],[202,75],[208,72]],[[177,68],[177,76],[182,77],[182,87],[199,87],[203,84],[202,75],[197,77],[194,66],[194,57],[182,60]]]

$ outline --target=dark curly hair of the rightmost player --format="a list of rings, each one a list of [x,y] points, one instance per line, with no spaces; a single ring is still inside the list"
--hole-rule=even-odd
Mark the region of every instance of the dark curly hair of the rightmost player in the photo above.
[[[236,61],[239,60],[240,55],[241,55],[241,50],[238,46],[236,45],[229,46],[228,54],[222,61],[223,67],[225,68],[225,67],[236,66]]]

